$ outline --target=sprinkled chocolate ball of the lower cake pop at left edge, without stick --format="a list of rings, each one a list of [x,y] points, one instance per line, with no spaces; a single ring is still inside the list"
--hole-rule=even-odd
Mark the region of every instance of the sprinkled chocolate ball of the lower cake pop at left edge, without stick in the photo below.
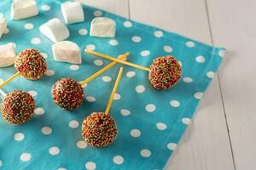
[[[31,94],[15,90],[3,98],[1,110],[6,122],[22,124],[33,116],[35,101]]]

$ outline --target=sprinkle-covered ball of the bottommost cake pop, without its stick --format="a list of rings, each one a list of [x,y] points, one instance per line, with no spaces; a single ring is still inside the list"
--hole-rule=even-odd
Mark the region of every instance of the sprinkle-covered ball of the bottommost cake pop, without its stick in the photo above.
[[[91,146],[104,147],[116,139],[118,129],[112,116],[103,112],[93,112],[84,119],[82,135]]]

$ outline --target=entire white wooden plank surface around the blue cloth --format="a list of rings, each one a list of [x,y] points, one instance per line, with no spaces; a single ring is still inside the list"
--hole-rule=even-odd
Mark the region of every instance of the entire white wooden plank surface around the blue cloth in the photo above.
[[[256,169],[256,0],[79,1],[227,48],[166,169]]]

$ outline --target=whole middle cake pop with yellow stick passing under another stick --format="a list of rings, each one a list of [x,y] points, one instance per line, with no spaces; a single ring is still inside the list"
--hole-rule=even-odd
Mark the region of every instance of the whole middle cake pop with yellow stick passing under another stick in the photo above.
[[[119,59],[125,59],[129,54],[130,53],[126,53],[120,56]],[[83,82],[77,82],[72,78],[61,78],[61,80],[55,82],[52,88],[52,98],[55,102],[55,105],[58,105],[65,111],[73,111],[78,109],[84,101],[84,85],[117,63],[118,62],[113,61],[109,65],[102,68],[100,71],[97,71],[95,74],[85,79]]]

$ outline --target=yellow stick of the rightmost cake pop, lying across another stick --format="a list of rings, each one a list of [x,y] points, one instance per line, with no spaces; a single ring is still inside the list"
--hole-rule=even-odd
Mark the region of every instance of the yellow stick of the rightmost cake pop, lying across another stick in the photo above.
[[[141,69],[141,70],[143,70],[143,71],[150,71],[149,68],[144,67],[144,66],[142,66],[142,65],[136,65],[136,64],[133,64],[133,63],[130,63],[130,62],[121,60],[121,59],[115,59],[115,58],[113,58],[113,57],[110,57],[110,56],[105,55],[105,54],[98,53],[98,52],[93,51],[93,50],[90,50],[90,49],[85,49],[84,51],[85,51],[86,53],[88,53],[88,54],[94,54],[94,55],[96,55],[96,56],[98,56],[98,57],[102,57],[102,58],[104,58],[104,59],[110,59],[110,60],[113,60],[113,61],[117,61],[117,62],[119,62],[119,63],[122,63],[122,64],[124,64],[124,65],[130,65],[130,66],[132,66],[132,67],[136,67],[137,69]]]

